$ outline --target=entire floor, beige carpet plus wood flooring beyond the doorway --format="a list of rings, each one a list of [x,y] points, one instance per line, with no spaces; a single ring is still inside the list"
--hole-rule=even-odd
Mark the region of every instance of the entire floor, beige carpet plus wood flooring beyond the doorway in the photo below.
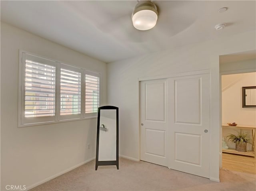
[[[220,170],[220,183],[167,167],[120,158],[116,166],[86,163],[31,191],[256,191],[256,175]]]

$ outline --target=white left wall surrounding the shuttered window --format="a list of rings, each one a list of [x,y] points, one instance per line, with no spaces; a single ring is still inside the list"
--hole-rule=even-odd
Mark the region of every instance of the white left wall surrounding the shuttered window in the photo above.
[[[96,154],[96,118],[18,128],[19,49],[98,71],[106,104],[106,63],[1,22],[1,191],[37,185]]]

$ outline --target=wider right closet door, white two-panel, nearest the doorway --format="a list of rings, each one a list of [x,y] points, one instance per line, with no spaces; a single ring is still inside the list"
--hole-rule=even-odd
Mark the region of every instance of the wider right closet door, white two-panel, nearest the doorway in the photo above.
[[[168,79],[169,168],[209,178],[210,75]]]

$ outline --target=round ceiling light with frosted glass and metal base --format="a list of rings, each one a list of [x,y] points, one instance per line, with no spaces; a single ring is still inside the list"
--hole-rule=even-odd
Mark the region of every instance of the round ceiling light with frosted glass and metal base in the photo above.
[[[132,13],[132,24],[138,30],[150,30],[156,25],[157,18],[156,5],[150,1],[141,1]]]

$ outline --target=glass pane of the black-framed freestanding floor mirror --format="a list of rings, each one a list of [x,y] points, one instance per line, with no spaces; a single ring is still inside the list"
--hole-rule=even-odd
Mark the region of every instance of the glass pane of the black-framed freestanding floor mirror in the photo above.
[[[116,160],[116,110],[100,110],[98,161]]]

